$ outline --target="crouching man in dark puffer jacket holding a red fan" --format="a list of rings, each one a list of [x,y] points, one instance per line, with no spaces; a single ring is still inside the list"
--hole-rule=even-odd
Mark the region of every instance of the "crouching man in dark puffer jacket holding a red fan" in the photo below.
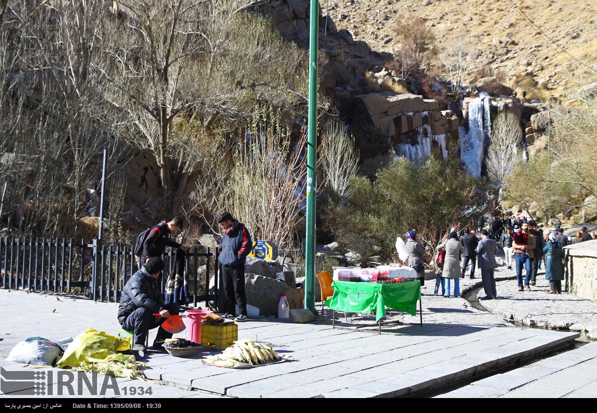
[[[166,338],[172,333],[165,331],[161,324],[170,317],[178,315],[178,304],[165,304],[162,292],[156,282],[164,269],[164,261],[159,257],[147,260],[144,267],[133,274],[122,290],[118,307],[118,322],[127,331],[133,331],[133,350],[145,352],[145,340],[150,329],[158,326],[158,334],[153,341],[153,349],[159,350]],[[159,316],[154,316],[158,314]]]

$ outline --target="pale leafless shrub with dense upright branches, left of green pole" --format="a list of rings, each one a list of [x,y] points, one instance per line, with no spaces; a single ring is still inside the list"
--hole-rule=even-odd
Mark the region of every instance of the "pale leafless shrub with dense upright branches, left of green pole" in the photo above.
[[[219,232],[208,214],[230,211],[247,225],[254,240],[290,247],[303,216],[305,156],[304,131],[291,131],[280,123],[279,114],[264,110],[241,132],[233,156],[214,164],[214,180],[198,181],[191,196],[196,213]]]

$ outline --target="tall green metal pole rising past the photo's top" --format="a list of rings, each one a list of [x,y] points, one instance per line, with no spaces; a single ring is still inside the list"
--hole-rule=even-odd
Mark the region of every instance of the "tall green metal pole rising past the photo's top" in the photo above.
[[[307,228],[304,246],[304,308],[315,314],[315,198],[317,151],[317,51],[319,2],[311,0],[309,16],[309,116],[307,119]]]

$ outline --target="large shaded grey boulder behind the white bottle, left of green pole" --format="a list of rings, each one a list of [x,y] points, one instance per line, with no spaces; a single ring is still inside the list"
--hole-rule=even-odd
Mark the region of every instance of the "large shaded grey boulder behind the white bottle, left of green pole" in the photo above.
[[[303,308],[304,289],[291,288],[283,282],[257,274],[245,273],[247,304],[259,309],[261,316],[277,316],[280,295],[286,294],[291,309]]]

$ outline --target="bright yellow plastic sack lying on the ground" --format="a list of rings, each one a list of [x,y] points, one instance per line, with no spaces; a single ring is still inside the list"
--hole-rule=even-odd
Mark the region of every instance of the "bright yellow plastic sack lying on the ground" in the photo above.
[[[81,362],[103,360],[109,355],[130,349],[131,344],[128,341],[121,340],[104,331],[88,328],[69,344],[62,358],[58,360],[57,367],[77,367]]]

